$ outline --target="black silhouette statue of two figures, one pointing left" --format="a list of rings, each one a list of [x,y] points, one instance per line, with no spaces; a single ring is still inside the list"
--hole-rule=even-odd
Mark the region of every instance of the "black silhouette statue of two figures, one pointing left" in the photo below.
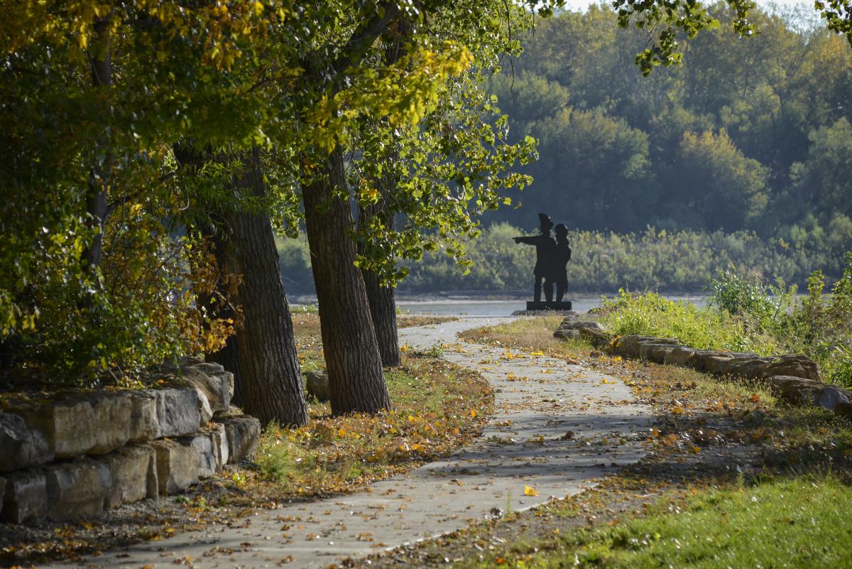
[[[527,302],[527,310],[571,310],[571,302],[562,302],[568,288],[567,264],[571,260],[571,247],[568,244],[568,228],[560,223],[553,227],[553,221],[543,213],[538,214],[541,233],[531,237],[515,237],[515,243],[535,245],[535,301]],[[556,239],[550,235],[554,229]],[[556,302],[553,302],[553,287],[556,284]],[[541,291],[544,299],[541,302]]]

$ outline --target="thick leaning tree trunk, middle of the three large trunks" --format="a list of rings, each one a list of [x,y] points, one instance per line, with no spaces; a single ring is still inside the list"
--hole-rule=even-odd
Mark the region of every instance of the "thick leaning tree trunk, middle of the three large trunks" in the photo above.
[[[331,152],[325,175],[302,188],[305,225],[331,391],[331,411],[376,413],[390,406],[364,279],[355,267],[349,204],[333,195],[345,188],[343,152]]]

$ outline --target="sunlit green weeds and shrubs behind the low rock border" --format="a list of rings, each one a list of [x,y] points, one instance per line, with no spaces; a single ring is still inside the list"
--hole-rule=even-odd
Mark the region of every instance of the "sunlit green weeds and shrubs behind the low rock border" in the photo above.
[[[852,386],[852,252],[831,293],[824,289],[819,270],[803,297],[781,280],[768,285],[753,274],[720,271],[708,285],[707,307],[621,291],[604,300],[602,321],[616,334],[675,337],[694,348],[804,353],[820,364],[826,381]]]

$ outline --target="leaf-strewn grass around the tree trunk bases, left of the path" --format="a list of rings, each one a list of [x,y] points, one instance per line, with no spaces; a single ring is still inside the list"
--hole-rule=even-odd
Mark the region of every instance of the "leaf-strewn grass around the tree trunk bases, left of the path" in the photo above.
[[[422,325],[419,317],[400,317]],[[440,318],[440,317],[438,317]],[[429,317],[429,323],[443,321]],[[315,313],[294,313],[302,370],[322,369]],[[438,354],[432,354],[438,355]],[[391,411],[331,417],[326,403],[308,401],[308,425],[269,425],[255,458],[264,480],[285,495],[354,491],[373,480],[441,457],[481,433],[493,394],[478,374],[426,354],[406,353],[385,371]]]

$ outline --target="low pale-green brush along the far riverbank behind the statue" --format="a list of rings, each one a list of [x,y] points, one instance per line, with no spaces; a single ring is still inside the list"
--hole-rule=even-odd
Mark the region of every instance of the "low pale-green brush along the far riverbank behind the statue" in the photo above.
[[[850,223],[852,226],[852,223]],[[846,227],[852,231],[852,227]],[[434,293],[440,290],[532,290],[533,247],[515,244],[512,238],[525,232],[507,223],[483,231],[468,244],[473,266],[463,274],[440,251],[428,253],[422,262],[408,265],[409,275],[400,284],[402,293]],[[568,263],[569,292],[659,290],[699,292],[717,271],[734,267],[736,272],[780,277],[787,284],[806,284],[819,268],[830,280],[843,270],[843,242],[826,233],[804,232],[797,242],[761,239],[756,233],[667,232],[648,228],[641,233],[575,231],[569,235],[573,257]],[[311,276],[304,239],[279,242],[281,273],[288,292],[310,294]]]

